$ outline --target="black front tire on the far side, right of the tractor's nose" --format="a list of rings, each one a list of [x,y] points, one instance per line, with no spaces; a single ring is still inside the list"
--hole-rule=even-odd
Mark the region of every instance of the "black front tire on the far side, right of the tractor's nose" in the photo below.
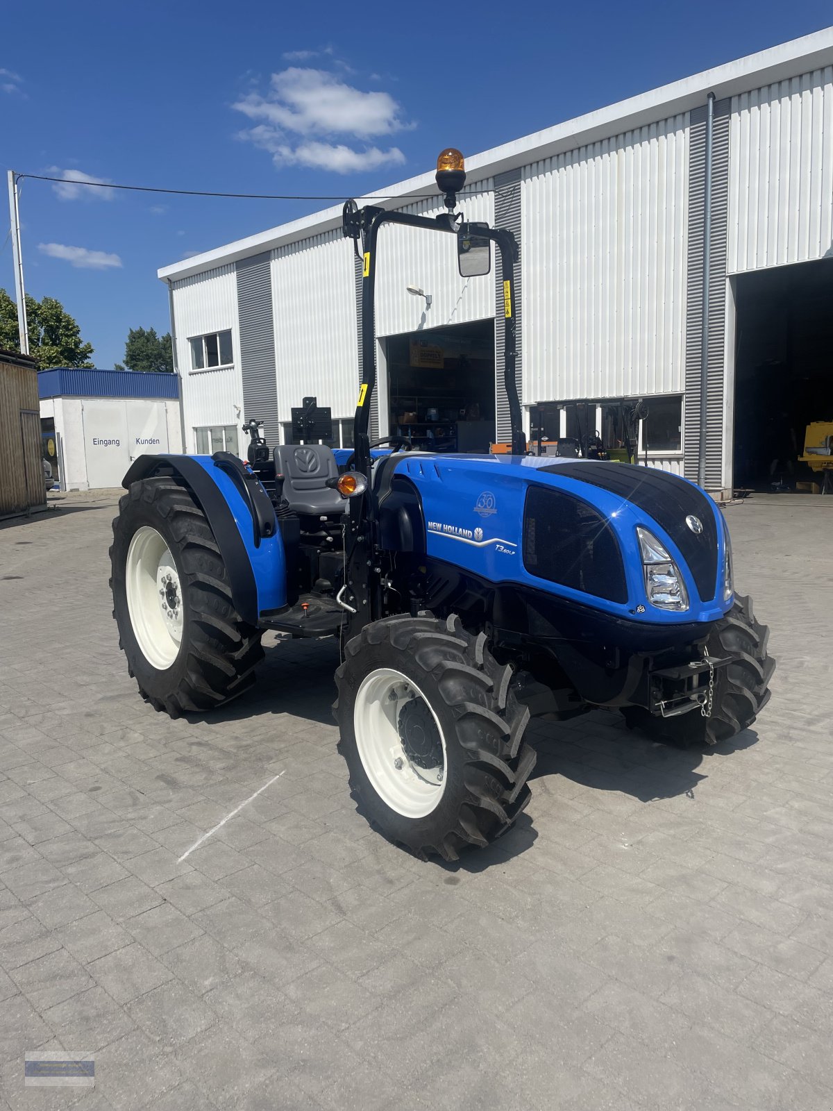
[[[735,594],[734,605],[715,621],[705,642],[709,655],[732,657],[732,662],[715,673],[711,717],[690,710],[679,718],[656,718],[630,705],[622,710],[629,729],[681,748],[717,744],[749,729],[770,701],[775,661],[766,652],[769,638],[770,630],[755,620],[752,599]]]

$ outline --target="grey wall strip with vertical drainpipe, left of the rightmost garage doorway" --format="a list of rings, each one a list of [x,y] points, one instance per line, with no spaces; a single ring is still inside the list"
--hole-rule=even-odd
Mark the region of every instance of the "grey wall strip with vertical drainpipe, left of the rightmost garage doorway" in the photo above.
[[[709,263],[705,484],[723,486],[724,349],[726,333],[726,222],[731,101],[714,106],[712,129],[712,227]],[[696,480],[700,448],[701,347],[705,208],[705,106],[691,113],[689,137],[689,258],[685,326],[685,477]]]

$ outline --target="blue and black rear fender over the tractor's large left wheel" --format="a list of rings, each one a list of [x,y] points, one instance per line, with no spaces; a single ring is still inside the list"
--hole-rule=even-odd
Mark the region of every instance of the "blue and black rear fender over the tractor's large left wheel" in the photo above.
[[[219,453],[222,457],[225,452]],[[242,469],[242,463],[240,464]],[[211,456],[140,456],[121,481],[133,482],[173,473],[189,487],[205,514],[229,575],[238,613],[252,625],[264,610],[287,604],[287,560],[280,529],[262,501],[265,490],[247,490],[248,482],[231,474],[225,458]],[[262,498],[261,498],[262,496]],[[270,502],[271,508],[271,502]],[[270,533],[271,534],[264,534]]]

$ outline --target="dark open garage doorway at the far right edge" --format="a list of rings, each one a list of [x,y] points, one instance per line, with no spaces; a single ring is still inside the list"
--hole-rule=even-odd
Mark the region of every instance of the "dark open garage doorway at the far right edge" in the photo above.
[[[806,428],[833,421],[833,259],[736,281],[734,486],[819,492]]]

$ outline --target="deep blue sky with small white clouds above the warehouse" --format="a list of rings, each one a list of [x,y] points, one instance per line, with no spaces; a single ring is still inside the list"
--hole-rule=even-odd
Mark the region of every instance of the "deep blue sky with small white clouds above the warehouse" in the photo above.
[[[827,0],[735,0],[702,18],[668,2],[560,9],[481,0],[444,20],[435,4],[329,0],[14,4],[0,161],[78,180],[358,194],[431,169],[442,147],[475,153],[830,22]],[[24,181],[27,288],[63,301],[111,367],[129,328],[168,330],[158,267],[323,207]],[[13,289],[8,242],[0,286]]]

